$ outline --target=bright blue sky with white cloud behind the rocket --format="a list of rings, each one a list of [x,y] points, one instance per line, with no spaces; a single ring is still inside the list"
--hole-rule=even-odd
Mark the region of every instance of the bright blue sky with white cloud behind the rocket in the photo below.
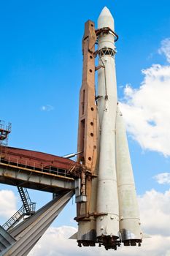
[[[158,206],[155,211],[160,210],[161,217],[165,217],[170,178],[163,182],[157,175],[170,172],[168,0],[1,1],[0,119],[12,122],[9,146],[61,156],[77,151],[84,23],[88,19],[97,23],[104,6],[112,12],[119,35],[117,89],[128,129],[139,203],[143,212],[151,207],[142,203],[145,197],[150,201],[151,197],[157,200],[162,196],[167,206]],[[159,69],[152,68],[153,64],[159,64]],[[0,185],[0,189],[12,189],[17,196],[15,188]],[[50,199],[48,194],[30,193],[39,206]],[[70,221],[74,215],[75,205],[70,202],[53,226],[76,227]],[[170,209],[166,215],[170,216]],[[5,216],[0,213],[0,217],[3,222]],[[154,233],[151,227],[144,227],[153,236],[161,236],[161,231]],[[169,256],[169,250],[162,255]]]

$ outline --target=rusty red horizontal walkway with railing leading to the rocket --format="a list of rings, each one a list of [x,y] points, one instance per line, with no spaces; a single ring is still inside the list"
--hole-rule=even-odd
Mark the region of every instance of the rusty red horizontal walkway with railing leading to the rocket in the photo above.
[[[80,168],[70,159],[8,147],[8,154],[0,155],[0,183],[58,193],[74,189]]]

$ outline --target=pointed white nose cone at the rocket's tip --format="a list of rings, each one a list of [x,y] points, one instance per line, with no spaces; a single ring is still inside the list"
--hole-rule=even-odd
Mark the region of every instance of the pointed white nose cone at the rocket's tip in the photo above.
[[[102,29],[107,26],[114,31],[114,19],[112,14],[107,7],[104,7],[98,17],[98,29]]]

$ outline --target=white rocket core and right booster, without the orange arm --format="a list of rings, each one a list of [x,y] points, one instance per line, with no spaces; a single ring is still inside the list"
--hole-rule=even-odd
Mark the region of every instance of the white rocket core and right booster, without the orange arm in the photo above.
[[[98,29],[115,31],[111,13],[104,7]],[[112,31],[98,36],[98,119],[101,129],[98,166],[96,236],[98,242],[112,247],[117,238],[125,245],[142,241],[139,209],[128,141],[120,110],[117,110],[115,37]],[[110,238],[109,238],[110,237]],[[111,246],[107,247],[109,243]]]

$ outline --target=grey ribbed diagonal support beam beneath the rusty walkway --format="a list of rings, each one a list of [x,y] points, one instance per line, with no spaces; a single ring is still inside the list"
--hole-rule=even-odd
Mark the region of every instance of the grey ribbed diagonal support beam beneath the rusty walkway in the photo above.
[[[66,192],[59,199],[56,197],[46,206],[42,207],[33,217],[33,221],[28,219],[23,225],[23,230],[15,227],[15,232],[11,231],[11,235],[15,236],[17,240],[4,254],[3,256],[25,256],[34,247],[39,238],[45,233],[47,228],[63,210],[64,206],[74,195],[73,191]]]

